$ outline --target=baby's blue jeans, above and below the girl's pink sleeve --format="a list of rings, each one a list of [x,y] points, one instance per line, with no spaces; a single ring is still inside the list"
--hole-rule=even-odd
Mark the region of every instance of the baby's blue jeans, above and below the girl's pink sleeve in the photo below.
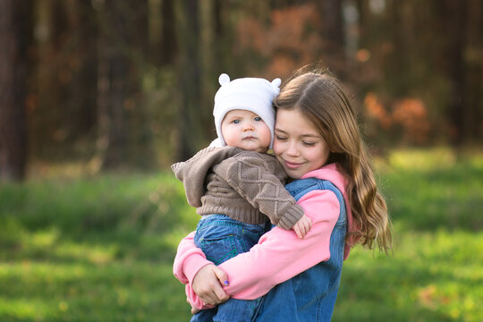
[[[194,242],[208,260],[219,265],[249,251],[264,233],[265,225],[244,224],[225,215],[212,215],[199,221]],[[201,310],[191,318],[191,322],[251,321],[260,301],[261,298],[251,301],[230,299],[216,308]]]

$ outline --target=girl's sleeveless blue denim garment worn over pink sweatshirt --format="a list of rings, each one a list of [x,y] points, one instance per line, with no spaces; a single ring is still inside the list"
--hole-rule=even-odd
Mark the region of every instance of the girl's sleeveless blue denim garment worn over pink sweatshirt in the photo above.
[[[330,236],[330,258],[276,285],[263,297],[252,321],[330,321],[339,290],[347,230],[345,202],[332,182],[301,179],[285,186],[297,201],[309,191],[328,190],[339,200],[340,213]]]

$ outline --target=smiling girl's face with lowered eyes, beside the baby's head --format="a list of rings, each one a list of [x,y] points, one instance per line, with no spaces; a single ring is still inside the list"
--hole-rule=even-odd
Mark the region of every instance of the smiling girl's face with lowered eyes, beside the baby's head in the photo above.
[[[276,112],[275,157],[293,179],[326,164],[330,149],[316,127],[298,109]]]

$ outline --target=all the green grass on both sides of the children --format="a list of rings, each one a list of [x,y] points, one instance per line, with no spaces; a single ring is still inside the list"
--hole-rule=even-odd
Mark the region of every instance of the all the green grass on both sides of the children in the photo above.
[[[483,320],[483,155],[377,169],[394,254],[352,250],[333,320]],[[188,321],[172,262],[197,219],[168,172],[0,184],[0,321]]]

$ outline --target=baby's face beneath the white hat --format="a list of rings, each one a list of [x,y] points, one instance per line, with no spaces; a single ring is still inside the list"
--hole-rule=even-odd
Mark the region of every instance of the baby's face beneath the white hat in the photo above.
[[[270,129],[258,114],[233,110],[225,115],[221,131],[226,145],[265,153],[270,146]]]

